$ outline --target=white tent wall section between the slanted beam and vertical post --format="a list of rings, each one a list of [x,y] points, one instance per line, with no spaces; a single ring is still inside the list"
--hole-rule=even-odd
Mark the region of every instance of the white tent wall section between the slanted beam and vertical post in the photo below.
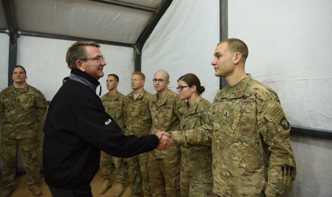
[[[168,87],[175,92],[178,78],[193,73],[206,88],[202,96],[212,102],[219,90],[219,78],[214,76],[210,62],[218,42],[218,1],[173,0],[142,50],[144,88],[156,93],[152,79],[160,69],[169,73]]]

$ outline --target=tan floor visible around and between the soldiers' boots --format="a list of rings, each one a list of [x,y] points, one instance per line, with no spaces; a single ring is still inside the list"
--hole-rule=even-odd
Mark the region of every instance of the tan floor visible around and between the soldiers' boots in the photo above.
[[[91,187],[92,187],[92,195],[94,197],[113,197],[114,196],[114,192],[115,189],[117,187],[117,182],[115,182],[115,175],[114,175],[114,168],[112,168],[112,187],[103,195],[99,195],[97,193],[100,185],[103,182],[103,179],[100,176],[100,173],[98,172],[96,174],[96,176],[94,177],[94,179],[91,182]],[[42,174],[43,175],[43,174]],[[0,183],[2,183],[2,181],[0,181]],[[38,183],[38,185],[41,187],[42,190],[42,195],[41,197],[50,197],[51,193],[46,185],[46,183],[44,182],[44,178],[41,178],[41,181]],[[32,195],[32,193],[29,191],[29,186],[27,183],[27,176],[26,175],[19,175],[16,177],[15,180],[15,185],[14,185],[15,191],[14,193],[11,195],[11,197],[34,197],[34,195]],[[0,186],[0,194],[2,194],[3,192],[3,188]],[[128,173],[127,173],[127,181],[125,183],[125,188],[124,188],[124,193],[122,194],[122,197],[128,197],[130,195],[130,179],[128,177]]]

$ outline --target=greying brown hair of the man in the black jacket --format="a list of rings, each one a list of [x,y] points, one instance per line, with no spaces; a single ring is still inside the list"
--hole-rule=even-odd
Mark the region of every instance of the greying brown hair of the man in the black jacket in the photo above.
[[[72,44],[66,54],[66,62],[68,64],[68,68],[71,70],[76,69],[76,61],[83,60],[87,58],[85,46],[94,46],[100,48],[100,45],[94,41],[77,41]],[[84,62],[86,62],[85,60]]]

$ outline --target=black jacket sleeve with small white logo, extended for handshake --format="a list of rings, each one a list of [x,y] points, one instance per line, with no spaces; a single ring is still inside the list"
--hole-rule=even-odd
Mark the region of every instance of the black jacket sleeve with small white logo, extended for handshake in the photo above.
[[[119,125],[108,115],[101,100],[95,99],[84,107],[78,118],[76,135],[116,157],[131,157],[155,149],[156,135],[137,138],[124,135]]]

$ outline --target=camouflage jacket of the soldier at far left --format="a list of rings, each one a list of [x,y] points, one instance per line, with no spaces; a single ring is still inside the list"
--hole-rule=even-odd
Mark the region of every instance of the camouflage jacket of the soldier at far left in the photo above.
[[[26,85],[18,92],[11,85],[0,93],[1,136],[24,139],[38,136],[38,123],[46,113],[47,103],[38,89]]]

